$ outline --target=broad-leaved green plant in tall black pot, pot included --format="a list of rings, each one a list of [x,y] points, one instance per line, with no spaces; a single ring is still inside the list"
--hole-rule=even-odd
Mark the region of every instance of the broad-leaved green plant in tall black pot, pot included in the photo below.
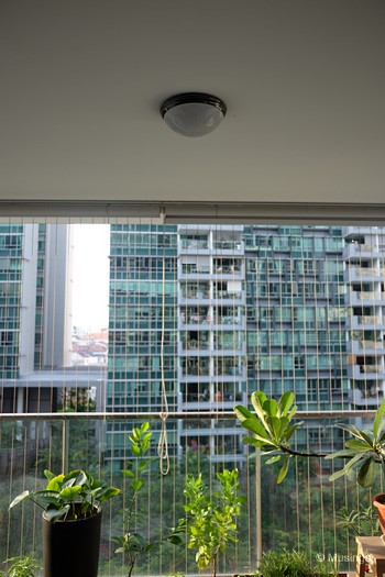
[[[101,503],[120,492],[77,469],[67,475],[44,471],[44,490],[23,491],[10,509],[29,499],[43,509],[45,577],[97,577]]]

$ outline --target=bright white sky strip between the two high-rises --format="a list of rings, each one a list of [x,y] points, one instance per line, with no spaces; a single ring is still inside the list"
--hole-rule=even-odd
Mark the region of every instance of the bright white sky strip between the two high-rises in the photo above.
[[[108,224],[74,224],[73,325],[99,331],[108,328]]]

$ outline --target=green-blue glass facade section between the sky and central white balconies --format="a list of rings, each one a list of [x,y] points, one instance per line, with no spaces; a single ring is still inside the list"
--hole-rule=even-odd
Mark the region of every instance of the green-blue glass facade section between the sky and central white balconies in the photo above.
[[[177,408],[177,240],[176,226],[111,225],[107,411],[158,412],[164,395]],[[106,458],[118,469],[130,426],[107,424]]]

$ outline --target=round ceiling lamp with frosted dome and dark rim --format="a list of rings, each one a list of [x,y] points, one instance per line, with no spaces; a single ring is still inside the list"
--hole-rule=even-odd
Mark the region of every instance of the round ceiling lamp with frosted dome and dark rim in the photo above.
[[[221,123],[227,107],[220,98],[204,92],[185,92],[168,98],[161,107],[163,120],[184,136],[205,136]]]

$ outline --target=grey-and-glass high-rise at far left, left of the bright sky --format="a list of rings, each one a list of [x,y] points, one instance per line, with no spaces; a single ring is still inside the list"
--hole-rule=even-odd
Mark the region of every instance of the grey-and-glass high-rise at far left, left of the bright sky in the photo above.
[[[0,412],[55,411],[70,353],[70,228],[0,224]]]

